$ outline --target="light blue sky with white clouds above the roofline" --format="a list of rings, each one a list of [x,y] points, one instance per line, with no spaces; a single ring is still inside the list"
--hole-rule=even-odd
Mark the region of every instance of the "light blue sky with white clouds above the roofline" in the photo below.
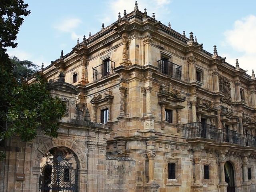
[[[198,43],[240,68],[256,70],[256,1],[255,0],[137,0],[138,8],[156,20],[186,36],[193,32]],[[18,34],[17,48],[8,54],[20,60],[30,60],[44,67],[70,52],[77,38],[82,41],[89,32],[101,30],[134,10],[135,0],[24,0],[31,14],[25,17]]]

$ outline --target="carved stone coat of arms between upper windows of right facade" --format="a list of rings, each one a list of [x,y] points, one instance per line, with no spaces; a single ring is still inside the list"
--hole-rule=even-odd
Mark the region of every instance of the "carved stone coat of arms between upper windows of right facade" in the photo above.
[[[226,77],[219,76],[219,88],[220,92],[224,94],[224,97],[222,97],[220,101],[231,105],[230,80],[228,80]]]

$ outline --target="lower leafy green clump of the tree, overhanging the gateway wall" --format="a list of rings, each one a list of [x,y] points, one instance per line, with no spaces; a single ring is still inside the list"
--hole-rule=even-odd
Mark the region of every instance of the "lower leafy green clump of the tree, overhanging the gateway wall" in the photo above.
[[[6,113],[6,131],[1,138],[20,136],[29,141],[36,137],[41,128],[48,136],[58,136],[57,120],[61,119],[66,105],[58,98],[52,98],[47,90],[47,82],[38,76],[38,82],[30,86],[21,84],[12,91],[14,99]]]

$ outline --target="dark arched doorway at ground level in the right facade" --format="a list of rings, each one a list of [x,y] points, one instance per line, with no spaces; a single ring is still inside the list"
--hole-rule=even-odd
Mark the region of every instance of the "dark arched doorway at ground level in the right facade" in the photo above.
[[[224,165],[225,170],[225,182],[228,183],[227,192],[235,192],[235,179],[234,179],[234,169],[230,162],[226,162]]]

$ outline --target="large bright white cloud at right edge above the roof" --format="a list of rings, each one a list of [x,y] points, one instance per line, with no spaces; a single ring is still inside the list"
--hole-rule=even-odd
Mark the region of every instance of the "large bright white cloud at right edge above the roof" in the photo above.
[[[248,70],[252,74],[252,69],[256,70],[256,16],[250,15],[234,22],[234,28],[224,32],[225,42],[234,51],[240,52],[238,57],[239,66]],[[235,65],[236,56],[226,54],[227,62]],[[230,56],[228,56],[230,55]]]

